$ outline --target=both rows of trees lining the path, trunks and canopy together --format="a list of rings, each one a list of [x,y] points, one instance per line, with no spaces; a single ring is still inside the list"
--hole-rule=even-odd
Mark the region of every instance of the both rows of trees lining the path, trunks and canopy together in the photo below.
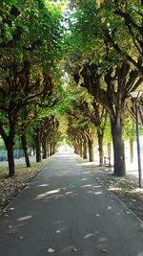
[[[79,154],[86,157],[89,147],[92,161],[96,134],[103,164],[107,120],[113,173],[125,175],[124,120],[134,118],[130,93],[143,87],[142,1],[76,0],[66,9],[63,2],[0,3],[0,134],[9,175],[15,134],[28,166],[28,134],[37,161],[41,147],[46,157],[47,144],[54,151],[62,133]]]

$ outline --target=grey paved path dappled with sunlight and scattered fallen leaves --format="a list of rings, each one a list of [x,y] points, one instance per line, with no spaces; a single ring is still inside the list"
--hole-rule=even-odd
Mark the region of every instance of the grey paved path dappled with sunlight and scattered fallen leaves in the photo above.
[[[143,256],[142,223],[76,158],[58,153],[0,217],[1,256]]]

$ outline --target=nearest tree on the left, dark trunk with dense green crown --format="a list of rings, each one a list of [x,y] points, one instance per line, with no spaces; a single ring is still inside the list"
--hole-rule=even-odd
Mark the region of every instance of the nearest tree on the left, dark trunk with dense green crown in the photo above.
[[[13,144],[18,114],[23,107],[51,91],[51,68],[58,59],[61,14],[44,1],[3,1],[0,61],[0,133],[14,175]]]

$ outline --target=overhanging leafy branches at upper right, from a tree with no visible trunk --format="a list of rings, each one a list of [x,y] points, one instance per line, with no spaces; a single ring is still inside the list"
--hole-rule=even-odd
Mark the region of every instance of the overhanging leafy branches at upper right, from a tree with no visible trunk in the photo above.
[[[88,44],[92,41],[93,46],[95,38],[96,42],[100,41],[101,50],[106,50],[109,61],[112,48],[114,56],[117,54],[117,58],[126,58],[143,75],[142,0],[71,1],[70,5],[72,32],[78,35],[75,44],[80,38],[88,41]],[[77,21],[78,27],[75,28]],[[102,43],[105,47],[102,47]],[[95,45],[93,47],[95,49]],[[86,46],[84,48],[87,49]],[[101,50],[96,56],[100,55]]]

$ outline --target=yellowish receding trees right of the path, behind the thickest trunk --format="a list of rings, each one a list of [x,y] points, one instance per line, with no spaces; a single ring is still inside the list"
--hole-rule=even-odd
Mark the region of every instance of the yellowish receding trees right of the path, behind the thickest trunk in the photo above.
[[[83,158],[89,158],[90,161],[94,161],[94,146],[98,145],[99,165],[103,165],[104,156],[108,157],[109,162],[112,157],[110,116],[102,105],[97,103],[94,105],[90,95],[85,90],[82,92],[81,90],[82,88],[78,89],[78,99],[74,99],[74,107],[68,112],[67,135],[72,141],[74,151]],[[136,132],[134,121],[128,116],[128,112],[125,115],[124,125],[124,141],[130,142],[130,161],[132,163],[133,141]]]

